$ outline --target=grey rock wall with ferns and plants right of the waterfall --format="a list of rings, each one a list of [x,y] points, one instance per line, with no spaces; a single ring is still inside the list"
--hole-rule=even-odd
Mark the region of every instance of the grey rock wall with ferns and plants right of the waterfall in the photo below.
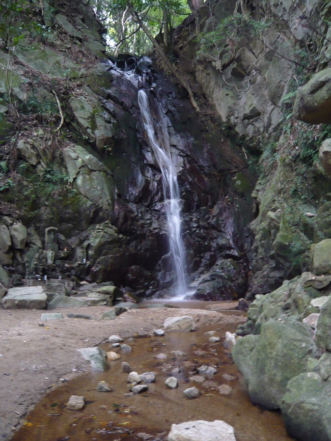
[[[330,179],[318,151],[331,129],[325,118],[297,121],[292,109],[297,89],[330,66],[330,5],[253,1],[246,9],[234,1],[204,4],[196,21],[178,27],[175,47],[220,127],[256,166],[252,299],[307,270],[310,247],[330,234]]]

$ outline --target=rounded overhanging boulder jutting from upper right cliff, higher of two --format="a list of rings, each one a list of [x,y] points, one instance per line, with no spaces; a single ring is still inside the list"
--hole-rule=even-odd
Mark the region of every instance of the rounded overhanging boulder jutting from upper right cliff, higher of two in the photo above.
[[[331,68],[316,73],[298,89],[293,115],[307,123],[331,123]]]

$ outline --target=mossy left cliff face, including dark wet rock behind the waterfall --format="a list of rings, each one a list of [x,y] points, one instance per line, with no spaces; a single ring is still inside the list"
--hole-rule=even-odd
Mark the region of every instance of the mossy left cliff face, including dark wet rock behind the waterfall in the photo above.
[[[2,283],[61,275],[169,294],[161,174],[142,129],[139,86],[169,121],[196,297],[243,296],[254,182],[243,152],[148,61],[134,59],[139,76],[105,59],[104,30],[83,4],[33,5],[42,34],[26,30],[14,52],[0,54],[12,81],[11,104],[3,69]],[[54,264],[43,251],[50,226],[58,229]]]

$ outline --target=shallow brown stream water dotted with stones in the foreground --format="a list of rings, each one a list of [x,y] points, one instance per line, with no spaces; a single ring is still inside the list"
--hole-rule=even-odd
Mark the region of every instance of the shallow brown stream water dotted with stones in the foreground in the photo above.
[[[237,441],[289,441],[292,438],[286,434],[280,413],[250,402],[230,352],[223,346],[225,332],[234,332],[235,328],[235,324],[217,323],[197,327],[191,333],[168,332],[163,337],[136,335],[125,341],[132,347],[131,353],[123,353],[109,343],[102,344],[105,351],[116,351],[121,358],[108,362],[106,372],[76,377],[49,392],[27,416],[12,441],[166,440],[172,424],[191,420],[224,420],[234,427]],[[220,342],[208,341],[210,335],[205,333],[210,330],[216,331]],[[182,351],[185,355],[172,351]],[[160,353],[165,353],[167,359],[157,359]],[[155,383],[148,384],[148,392],[129,394],[128,374],[121,367],[123,361],[138,373],[155,372]],[[190,381],[189,377],[197,374],[201,365],[214,366],[217,373],[205,376],[203,383]],[[175,368],[180,372],[173,373]],[[177,377],[177,389],[167,389],[164,384],[170,375]],[[106,381],[113,391],[98,392],[100,381]],[[232,388],[230,395],[219,393],[223,384]],[[189,400],[183,391],[193,386],[201,395]],[[87,404],[83,410],[66,408],[71,395],[85,397]],[[142,433],[145,437],[139,435]]]

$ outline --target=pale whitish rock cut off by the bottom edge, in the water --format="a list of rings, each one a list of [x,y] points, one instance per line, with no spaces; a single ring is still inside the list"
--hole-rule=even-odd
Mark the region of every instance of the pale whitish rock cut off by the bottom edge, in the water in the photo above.
[[[188,421],[173,424],[168,441],[236,441],[234,428],[224,421]]]

